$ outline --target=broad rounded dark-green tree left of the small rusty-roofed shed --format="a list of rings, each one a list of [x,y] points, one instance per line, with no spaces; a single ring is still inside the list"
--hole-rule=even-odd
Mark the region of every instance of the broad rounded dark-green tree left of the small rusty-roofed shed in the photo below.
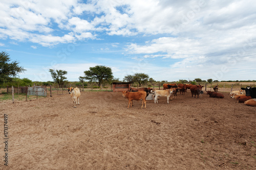
[[[90,67],[89,70],[84,71],[84,78],[90,82],[96,82],[98,86],[103,83],[103,80],[110,81],[113,78],[112,69],[103,65],[96,65]]]

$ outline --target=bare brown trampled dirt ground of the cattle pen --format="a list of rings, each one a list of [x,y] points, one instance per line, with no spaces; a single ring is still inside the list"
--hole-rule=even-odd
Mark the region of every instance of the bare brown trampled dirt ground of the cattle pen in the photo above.
[[[77,108],[69,94],[1,102],[0,169],[256,169],[256,107],[201,95],[146,109],[121,92],[82,92]]]

